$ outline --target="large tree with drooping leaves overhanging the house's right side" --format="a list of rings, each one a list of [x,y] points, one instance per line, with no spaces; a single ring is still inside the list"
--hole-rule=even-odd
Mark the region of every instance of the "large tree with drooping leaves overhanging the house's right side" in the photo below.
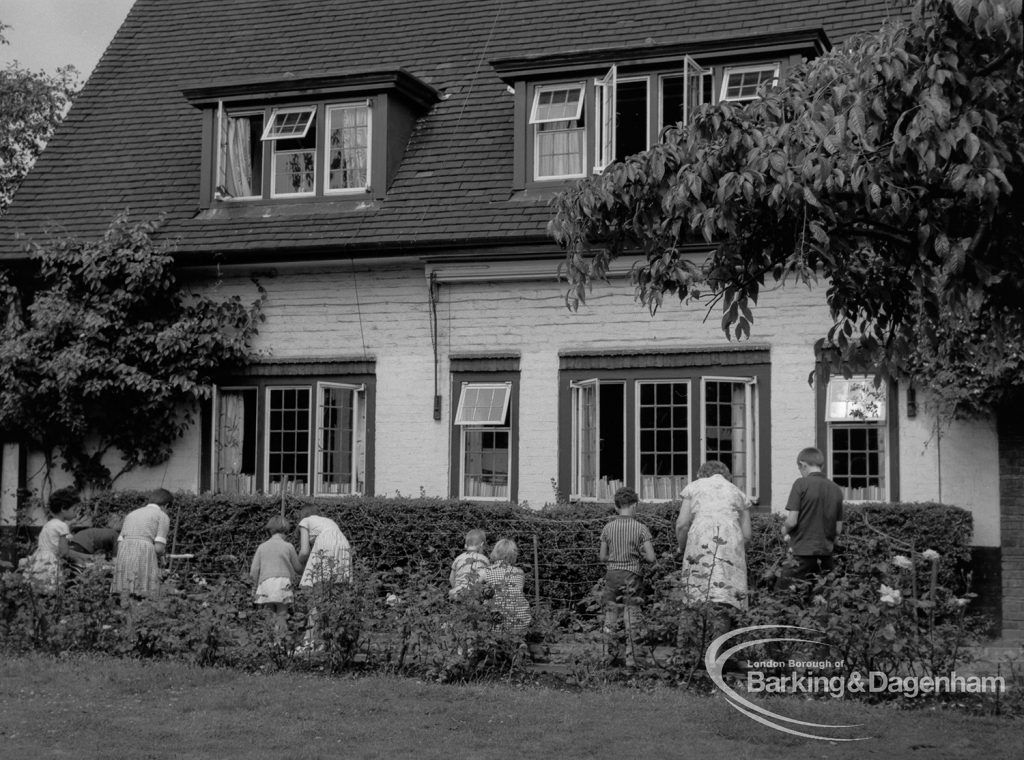
[[[1021,27],[1021,0],[918,0],[756,102],[703,107],[580,182],[550,224],[568,305],[638,251],[652,312],[667,295],[710,298],[742,337],[769,279],[821,276],[820,355],[912,377],[943,414],[998,406],[1024,387]]]

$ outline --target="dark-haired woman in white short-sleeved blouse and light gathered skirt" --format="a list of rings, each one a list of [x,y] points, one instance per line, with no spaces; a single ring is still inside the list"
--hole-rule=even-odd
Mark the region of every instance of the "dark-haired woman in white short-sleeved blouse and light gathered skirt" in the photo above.
[[[166,509],[174,497],[166,489],[150,494],[144,507],[129,512],[121,525],[118,553],[114,560],[111,593],[131,596],[160,596],[159,559],[167,549],[171,518]]]

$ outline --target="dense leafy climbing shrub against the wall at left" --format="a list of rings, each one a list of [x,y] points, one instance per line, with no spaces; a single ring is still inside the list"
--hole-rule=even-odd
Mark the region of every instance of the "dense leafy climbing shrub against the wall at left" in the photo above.
[[[263,319],[262,289],[246,304],[182,287],[157,227],[121,215],[99,240],[33,243],[33,281],[0,283],[0,430],[48,467],[59,455],[79,487],[166,461],[215,376],[251,357]]]

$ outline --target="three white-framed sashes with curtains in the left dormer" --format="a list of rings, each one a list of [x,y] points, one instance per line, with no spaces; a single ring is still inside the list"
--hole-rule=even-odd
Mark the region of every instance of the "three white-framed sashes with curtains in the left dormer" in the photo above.
[[[370,187],[368,100],[287,109],[220,107],[217,121],[216,200],[315,197]]]

